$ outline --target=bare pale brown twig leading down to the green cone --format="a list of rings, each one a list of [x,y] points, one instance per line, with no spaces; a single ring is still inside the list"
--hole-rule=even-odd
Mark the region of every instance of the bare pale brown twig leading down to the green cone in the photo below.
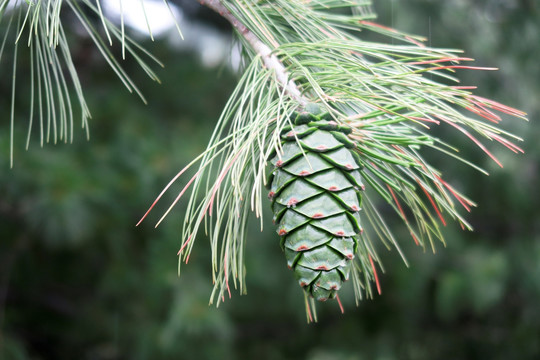
[[[199,0],[199,3],[214,10],[231,23],[238,33],[242,35],[242,37],[244,37],[244,39],[252,46],[253,50],[255,50],[255,52],[261,56],[266,68],[275,71],[278,82],[294,100],[296,100],[301,106],[305,106],[308,103],[308,100],[304,95],[302,95],[296,83],[293,80],[289,80],[285,66],[283,66],[275,54],[272,54],[272,50],[251,30],[249,30],[238,18],[236,18],[229,11],[229,9],[227,9],[221,3],[220,0]]]

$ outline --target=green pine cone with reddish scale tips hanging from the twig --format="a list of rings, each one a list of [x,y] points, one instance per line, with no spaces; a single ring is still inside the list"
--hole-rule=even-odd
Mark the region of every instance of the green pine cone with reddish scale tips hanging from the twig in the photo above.
[[[350,129],[328,114],[295,113],[271,160],[269,198],[287,265],[300,286],[325,301],[336,296],[358,246],[362,185]]]

